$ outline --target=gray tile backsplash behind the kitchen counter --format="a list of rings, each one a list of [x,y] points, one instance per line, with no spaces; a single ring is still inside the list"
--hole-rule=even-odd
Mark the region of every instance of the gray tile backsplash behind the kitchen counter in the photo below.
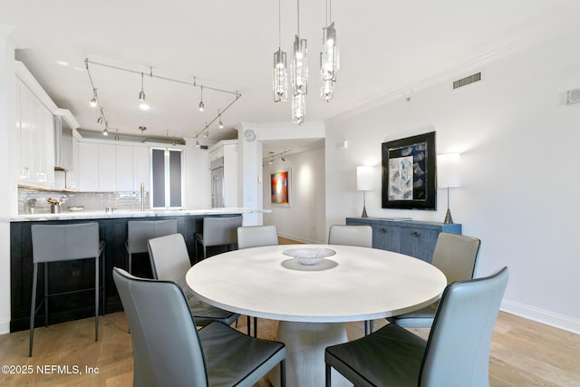
[[[117,211],[140,211],[139,191],[128,192],[63,192],[42,189],[18,188],[18,213],[49,214],[51,206],[48,198],[63,200],[61,211],[69,207],[84,207],[85,211],[104,211],[114,208]],[[150,209],[149,192],[145,192],[144,209]],[[31,210],[30,208],[34,208]]]

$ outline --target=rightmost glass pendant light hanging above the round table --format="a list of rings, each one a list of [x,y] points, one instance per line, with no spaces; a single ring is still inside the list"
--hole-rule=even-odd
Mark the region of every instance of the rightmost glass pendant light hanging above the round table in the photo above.
[[[328,24],[330,20],[330,24]],[[332,0],[326,3],[326,27],[323,28],[323,51],[320,53],[320,98],[326,102],[333,99],[334,82],[339,68],[336,29],[332,21]]]

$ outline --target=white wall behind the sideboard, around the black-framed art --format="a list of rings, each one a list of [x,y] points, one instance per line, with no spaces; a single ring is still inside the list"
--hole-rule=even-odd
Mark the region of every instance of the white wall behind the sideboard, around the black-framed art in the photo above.
[[[410,102],[401,95],[326,122],[327,227],[360,216],[362,164],[376,166],[370,217],[442,221],[444,190],[437,211],[381,208],[381,143],[437,131],[438,153],[461,153],[462,187],[451,189],[450,207],[463,233],[481,238],[476,275],[508,266],[504,310],[580,333],[580,103],[564,100],[580,87],[578,46],[578,31],[561,35],[461,69]],[[452,80],[480,70],[483,82],[451,91]]]

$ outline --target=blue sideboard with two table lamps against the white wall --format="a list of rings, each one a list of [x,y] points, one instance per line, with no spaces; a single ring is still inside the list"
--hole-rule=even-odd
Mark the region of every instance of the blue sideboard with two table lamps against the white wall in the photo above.
[[[414,256],[431,262],[440,232],[461,234],[461,225],[417,220],[395,221],[382,218],[346,218],[347,225],[372,227],[372,247]]]

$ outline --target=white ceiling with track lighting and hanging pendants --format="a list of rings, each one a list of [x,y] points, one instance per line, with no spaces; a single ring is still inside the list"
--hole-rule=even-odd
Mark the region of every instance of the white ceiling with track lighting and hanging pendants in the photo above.
[[[4,0],[0,24],[14,27],[16,59],[53,101],[73,112],[82,129],[102,131],[89,106],[92,85],[109,126],[120,133],[209,140],[237,138],[234,127],[291,121],[290,102],[273,102],[273,54],[278,48],[278,2],[273,0]],[[290,62],[296,2],[281,1],[281,48]],[[305,120],[327,120],[386,95],[409,92],[522,39],[577,23],[577,0],[361,0],[332,2],[341,69],[333,101],[318,97],[318,62],[325,24],[323,0],[300,3],[300,34],[308,40],[309,93]],[[112,69],[118,66],[132,72]],[[137,107],[143,91],[150,111]],[[151,77],[150,74],[154,77]],[[459,74],[464,75],[464,74]],[[166,77],[180,82],[158,78]],[[198,111],[200,88],[206,86]],[[228,92],[213,92],[210,88]],[[203,144],[203,138],[199,139]],[[304,141],[303,141],[304,142]],[[308,143],[308,141],[305,141]],[[265,145],[268,151],[293,143]],[[299,148],[299,143],[294,148]],[[312,145],[311,145],[312,146]]]

